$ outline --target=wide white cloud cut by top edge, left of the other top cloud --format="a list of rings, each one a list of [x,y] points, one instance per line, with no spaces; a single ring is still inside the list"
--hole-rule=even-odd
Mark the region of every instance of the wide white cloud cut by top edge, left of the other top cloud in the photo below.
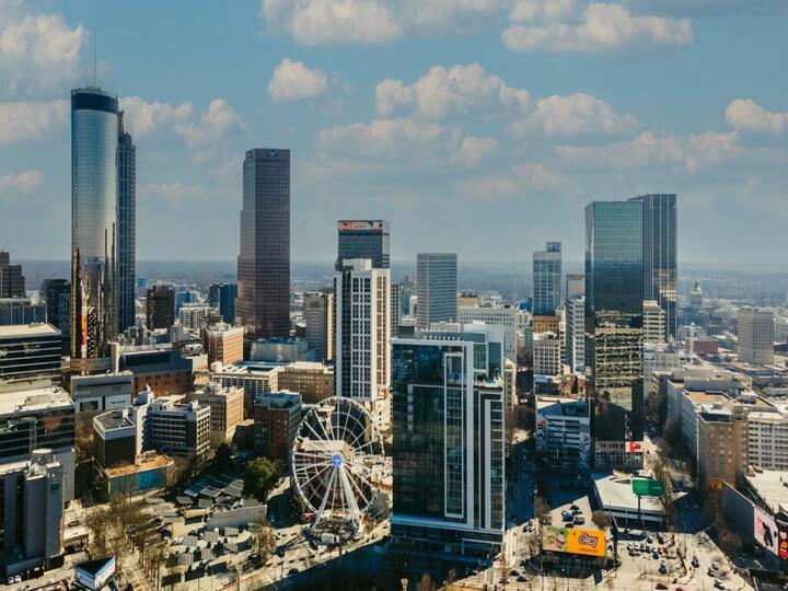
[[[263,0],[269,30],[300,45],[382,44],[413,31],[476,31],[511,0]]]

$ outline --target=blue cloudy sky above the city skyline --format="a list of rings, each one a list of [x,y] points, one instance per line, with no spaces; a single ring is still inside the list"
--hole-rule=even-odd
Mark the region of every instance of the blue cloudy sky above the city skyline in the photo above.
[[[583,256],[594,199],[679,195],[680,262],[784,265],[785,0],[0,0],[0,250],[67,259],[70,89],[137,144],[137,256],[232,260],[245,150],[289,148],[291,256]]]

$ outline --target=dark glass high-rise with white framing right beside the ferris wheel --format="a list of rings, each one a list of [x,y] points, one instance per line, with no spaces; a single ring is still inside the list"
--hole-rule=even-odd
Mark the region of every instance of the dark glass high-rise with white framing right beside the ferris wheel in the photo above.
[[[480,347],[479,347],[480,345]],[[505,532],[505,395],[485,335],[392,340],[396,544],[489,557]]]

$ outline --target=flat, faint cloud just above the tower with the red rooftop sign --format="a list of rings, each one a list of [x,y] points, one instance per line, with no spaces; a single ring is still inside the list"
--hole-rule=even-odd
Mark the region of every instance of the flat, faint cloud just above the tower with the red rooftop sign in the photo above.
[[[412,118],[335,125],[318,134],[317,143],[328,152],[341,150],[361,160],[419,166],[450,163],[472,166],[497,147],[493,138],[464,136],[459,127]]]

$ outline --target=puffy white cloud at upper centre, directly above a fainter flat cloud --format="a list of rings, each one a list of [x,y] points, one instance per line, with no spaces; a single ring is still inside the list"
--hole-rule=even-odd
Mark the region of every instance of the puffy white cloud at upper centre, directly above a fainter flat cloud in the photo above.
[[[428,119],[472,112],[510,111],[524,113],[529,92],[509,86],[478,63],[456,65],[447,69],[432,66],[413,84],[387,79],[375,89],[375,109],[390,116],[396,112],[414,111]]]

